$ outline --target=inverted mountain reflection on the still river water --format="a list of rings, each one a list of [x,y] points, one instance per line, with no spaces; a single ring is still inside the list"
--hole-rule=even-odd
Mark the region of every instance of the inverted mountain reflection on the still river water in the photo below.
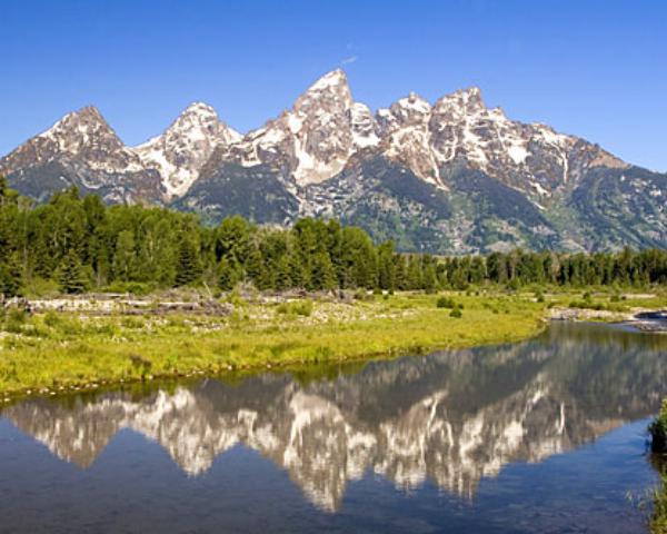
[[[667,338],[554,324],[517,345],[93,396],[33,399],[0,416],[89,467],[131,428],[189,475],[242,444],[286,469],[318,507],[372,471],[474,498],[482,477],[540,462],[657,412]],[[321,370],[321,369],[320,369]]]

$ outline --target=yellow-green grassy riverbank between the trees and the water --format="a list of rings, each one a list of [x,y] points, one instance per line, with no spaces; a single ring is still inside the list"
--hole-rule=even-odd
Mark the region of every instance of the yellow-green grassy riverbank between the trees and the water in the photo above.
[[[649,297],[643,303],[655,306]],[[356,299],[237,295],[203,313],[143,305],[140,312],[104,305],[99,313],[63,303],[31,314],[14,309],[0,332],[0,400],[109,383],[517,342],[539,333],[549,310],[569,298],[487,291]]]

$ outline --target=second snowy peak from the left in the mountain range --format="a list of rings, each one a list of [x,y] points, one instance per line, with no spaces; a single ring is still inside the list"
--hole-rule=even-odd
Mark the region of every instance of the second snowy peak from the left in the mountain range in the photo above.
[[[216,110],[193,102],[161,136],[135,147],[143,165],[160,172],[171,196],[182,196],[219,146],[238,142],[241,135],[220,121]]]

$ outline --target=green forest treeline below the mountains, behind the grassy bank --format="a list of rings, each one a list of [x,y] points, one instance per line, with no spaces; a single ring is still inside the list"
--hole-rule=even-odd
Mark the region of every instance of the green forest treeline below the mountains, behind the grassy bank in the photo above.
[[[0,294],[27,287],[66,293],[206,285],[229,290],[334,288],[466,289],[500,284],[573,286],[667,283],[667,251],[555,254],[514,250],[439,258],[397,254],[360,228],[299,220],[289,229],[229,217],[206,227],[197,216],[141,206],[106,206],[76,189],[33,205],[0,177]]]

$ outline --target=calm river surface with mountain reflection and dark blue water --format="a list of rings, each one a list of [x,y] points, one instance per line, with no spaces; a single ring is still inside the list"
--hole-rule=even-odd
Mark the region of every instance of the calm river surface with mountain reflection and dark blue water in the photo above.
[[[537,339],[0,412],[4,533],[633,533],[667,336]]]

